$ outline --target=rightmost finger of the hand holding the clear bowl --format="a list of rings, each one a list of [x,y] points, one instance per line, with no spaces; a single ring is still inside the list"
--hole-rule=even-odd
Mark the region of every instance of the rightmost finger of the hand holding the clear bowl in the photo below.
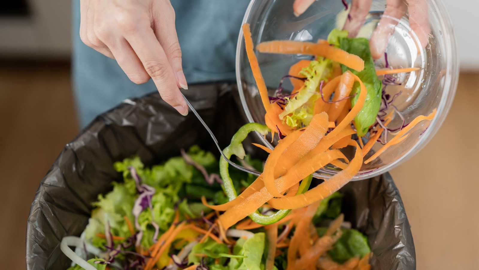
[[[429,33],[431,32],[431,25],[429,24],[429,15],[427,10],[426,0],[407,0],[409,11],[409,26],[414,32],[421,47],[425,48],[429,42]]]

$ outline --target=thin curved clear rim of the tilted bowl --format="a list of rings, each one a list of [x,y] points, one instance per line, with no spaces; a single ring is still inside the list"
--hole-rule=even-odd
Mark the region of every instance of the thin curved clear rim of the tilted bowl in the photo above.
[[[257,1],[258,0],[250,1],[248,8],[246,9],[245,15],[243,17],[243,21],[241,22],[241,25],[243,25],[244,23],[248,23],[251,10]],[[418,153],[424,146],[426,146],[426,144],[429,141],[431,141],[431,139],[433,138],[437,130],[443,124],[445,117],[447,116],[449,109],[452,106],[454,96],[456,94],[457,82],[459,78],[459,58],[458,58],[458,51],[457,51],[456,35],[454,33],[451,17],[449,15],[449,12],[445,8],[444,3],[441,0],[428,0],[428,6],[430,7],[432,6],[433,10],[439,13],[438,19],[440,22],[441,29],[444,32],[443,36],[445,36],[446,34],[448,35],[448,38],[445,38],[445,48],[444,48],[445,54],[446,54],[446,67],[445,67],[445,75],[444,75],[445,82],[443,87],[444,91],[442,93],[439,105],[437,106],[436,116],[433,118],[433,120],[429,124],[429,127],[424,131],[421,138],[419,138],[419,140],[411,147],[411,149],[409,149],[409,151],[404,153],[397,160],[389,164],[386,164],[382,167],[360,171],[358,174],[356,174],[353,177],[353,179],[351,179],[351,181],[363,180],[363,179],[371,178],[371,177],[386,173],[389,170],[393,169],[394,167],[398,166],[399,164],[402,164],[403,162],[411,158],[416,153]],[[239,93],[239,99],[241,101],[241,106],[243,107],[243,111],[248,121],[252,123],[254,122],[254,120],[251,115],[250,109],[246,104],[246,97],[244,95],[243,86],[241,83],[240,57],[241,57],[241,52],[243,48],[242,46],[243,40],[244,40],[243,30],[242,28],[240,28],[238,42],[236,46],[236,60],[235,60],[236,61],[235,63],[236,83],[238,86],[238,93]],[[264,139],[263,136],[261,136],[261,134],[259,134],[258,132],[255,132],[255,133],[266,147],[270,149],[274,148],[269,141],[267,141],[266,139]],[[320,179],[329,179],[333,175],[319,174],[316,172],[314,173],[314,176]]]

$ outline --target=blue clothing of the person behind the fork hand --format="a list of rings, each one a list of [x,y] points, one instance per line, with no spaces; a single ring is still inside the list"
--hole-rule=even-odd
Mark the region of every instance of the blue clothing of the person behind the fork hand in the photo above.
[[[188,84],[234,82],[235,52],[249,0],[171,0]],[[73,0],[73,89],[81,126],[125,98],[157,91],[131,82],[114,59],[80,40],[80,0]]]

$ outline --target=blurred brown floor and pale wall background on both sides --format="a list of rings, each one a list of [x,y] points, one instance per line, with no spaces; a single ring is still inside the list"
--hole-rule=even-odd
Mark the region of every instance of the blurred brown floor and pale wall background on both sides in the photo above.
[[[412,226],[418,269],[479,269],[479,1],[445,0],[461,74],[433,140],[391,174]],[[70,79],[71,1],[0,7],[0,261],[25,267],[25,231],[40,180],[79,132]]]

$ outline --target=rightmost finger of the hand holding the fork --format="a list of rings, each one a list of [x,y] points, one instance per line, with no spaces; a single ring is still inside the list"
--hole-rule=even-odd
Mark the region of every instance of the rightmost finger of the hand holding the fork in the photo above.
[[[152,14],[152,16],[162,18],[161,23],[158,20],[153,20],[155,36],[165,51],[168,62],[175,74],[178,87],[188,89],[188,83],[186,82],[182,68],[180,43],[178,42],[178,35],[176,34],[175,11],[170,1],[155,1],[153,4],[159,5],[158,8],[154,7],[153,10],[160,14]]]

